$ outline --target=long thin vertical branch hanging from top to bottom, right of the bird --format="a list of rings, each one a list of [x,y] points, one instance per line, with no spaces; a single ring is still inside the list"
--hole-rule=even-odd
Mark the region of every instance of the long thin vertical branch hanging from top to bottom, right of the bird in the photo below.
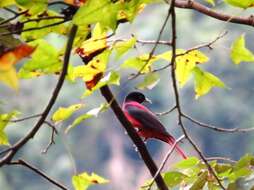
[[[192,147],[196,150],[200,158],[203,160],[205,165],[207,166],[208,171],[214,176],[216,181],[218,182],[219,186],[226,190],[223,184],[221,183],[219,177],[216,175],[213,168],[210,166],[209,162],[205,159],[205,156],[201,152],[201,150],[198,148],[198,146],[195,144],[195,142],[191,139],[189,134],[187,133],[187,130],[185,129],[185,126],[182,121],[182,110],[180,105],[180,98],[179,98],[179,92],[177,87],[177,81],[176,81],[176,74],[175,74],[175,67],[176,67],[176,13],[175,13],[175,2],[176,0],[171,1],[170,9],[172,9],[172,21],[171,21],[171,27],[172,27],[172,58],[171,58],[171,77],[172,77],[172,86],[173,91],[175,95],[175,101],[176,101],[176,109],[178,111],[178,125],[181,127],[183,134],[185,135],[186,139],[189,141],[189,143],[192,145]]]

